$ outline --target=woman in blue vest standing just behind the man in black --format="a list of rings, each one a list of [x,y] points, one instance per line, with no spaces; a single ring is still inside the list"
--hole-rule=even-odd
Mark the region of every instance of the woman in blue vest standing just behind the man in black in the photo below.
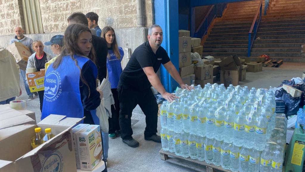
[[[120,75],[122,73],[121,61],[124,57],[124,51],[122,47],[117,46],[117,40],[115,32],[112,27],[106,26],[102,29],[102,38],[106,39],[108,47],[107,55],[107,70],[109,74],[109,81],[111,84],[111,92],[114,98],[114,105],[111,105],[112,117],[108,118],[109,122],[109,137],[111,139],[116,138],[116,134],[120,134],[119,124],[119,111],[120,102],[117,93],[117,84],[119,83]]]

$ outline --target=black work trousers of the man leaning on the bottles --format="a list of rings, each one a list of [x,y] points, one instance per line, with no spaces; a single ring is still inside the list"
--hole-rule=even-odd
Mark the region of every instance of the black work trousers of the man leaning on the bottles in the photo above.
[[[157,133],[158,123],[158,104],[151,89],[135,90],[127,88],[118,88],[120,101],[120,129],[121,138],[132,138],[131,115],[132,110],[139,105],[145,114],[146,128],[144,137],[151,137]]]

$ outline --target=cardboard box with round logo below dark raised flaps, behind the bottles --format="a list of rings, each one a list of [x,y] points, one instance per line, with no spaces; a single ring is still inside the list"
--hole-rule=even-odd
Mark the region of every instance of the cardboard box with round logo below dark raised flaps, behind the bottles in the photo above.
[[[221,70],[220,71],[220,83],[228,87],[230,84],[233,86],[238,85],[239,71],[238,70]]]

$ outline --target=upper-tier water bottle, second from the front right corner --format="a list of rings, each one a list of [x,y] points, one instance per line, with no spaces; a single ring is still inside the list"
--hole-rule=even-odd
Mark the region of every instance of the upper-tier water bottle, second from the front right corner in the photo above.
[[[244,144],[243,146],[245,148],[253,148],[254,146],[254,136],[255,136],[255,111],[252,110],[248,116],[246,116],[246,122],[245,122],[245,132],[244,132]]]

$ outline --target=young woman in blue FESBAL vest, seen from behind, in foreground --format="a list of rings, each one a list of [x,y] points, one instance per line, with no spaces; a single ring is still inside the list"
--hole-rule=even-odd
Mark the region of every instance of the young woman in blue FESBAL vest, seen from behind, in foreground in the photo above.
[[[96,90],[97,67],[91,32],[83,24],[71,24],[64,35],[64,49],[45,74],[41,119],[50,114],[85,116],[85,124],[99,125],[95,112],[102,92]]]

